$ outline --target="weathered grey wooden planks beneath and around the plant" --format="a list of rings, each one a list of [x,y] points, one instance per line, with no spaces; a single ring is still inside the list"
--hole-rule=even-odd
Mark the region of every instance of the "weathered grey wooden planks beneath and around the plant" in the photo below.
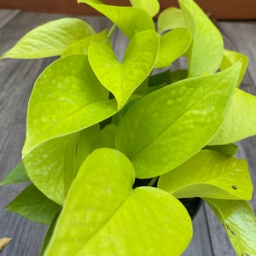
[[[0,9],[0,55],[33,27],[61,15],[26,13],[17,10]],[[100,31],[111,24],[102,17],[82,17]],[[250,64],[243,83],[243,89],[256,95],[256,24],[242,22],[218,22],[224,34],[227,49],[241,51],[250,57]],[[124,36],[117,32],[113,42],[123,38],[124,44],[114,44],[120,54],[125,48]],[[3,60],[0,61],[0,180],[20,161],[26,129],[26,104],[34,80],[51,58],[34,61]],[[175,63],[174,67],[183,65]],[[256,186],[256,137],[241,143],[239,152],[246,157]],[[40,244],[47,229],[41,224],[34,224],[10,212],[3,207],[17,195],[24,185],[0,187],[0,238],[9,236],[13,241],[3,249],[0,256],[37,256]],[[253,210],[256,212],[256,198],[253,196]],[[206,205],[203,205],[195,217],[194,238],[185,256],[236,255],[224,234],[224,229]],[[56,255],[58,256],[58,255]]]

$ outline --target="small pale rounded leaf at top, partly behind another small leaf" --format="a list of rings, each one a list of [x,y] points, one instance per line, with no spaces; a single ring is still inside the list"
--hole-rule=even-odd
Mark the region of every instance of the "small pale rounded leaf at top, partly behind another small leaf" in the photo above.
[[[186,27],[182,11],[174,7],[163,10],[157,19],[157,27],[159,34],[177,27]]]

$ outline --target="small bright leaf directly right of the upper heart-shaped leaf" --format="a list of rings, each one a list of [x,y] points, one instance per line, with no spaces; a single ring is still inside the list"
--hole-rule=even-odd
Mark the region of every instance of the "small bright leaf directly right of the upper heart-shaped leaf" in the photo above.
[[[160,37],[160,49],[155,63],[156,68],[169,67],[172,62],[189,48],[192,36],[186,28],[177,28]]]

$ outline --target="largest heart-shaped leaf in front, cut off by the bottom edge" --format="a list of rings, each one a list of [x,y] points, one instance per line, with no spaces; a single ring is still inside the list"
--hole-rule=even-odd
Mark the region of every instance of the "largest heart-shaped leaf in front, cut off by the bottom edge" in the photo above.
[[[124,154],[96,149],[73,182],[44,255],[183,253],[192,236],[188,212],[165,191],[132,190],[133,183]]]

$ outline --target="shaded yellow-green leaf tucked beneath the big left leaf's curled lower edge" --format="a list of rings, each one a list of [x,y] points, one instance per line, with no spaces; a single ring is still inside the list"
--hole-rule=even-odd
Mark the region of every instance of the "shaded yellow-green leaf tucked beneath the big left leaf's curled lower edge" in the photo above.
[[[44,195],[63,205],[76,176],[79,133],[58,137],[34,148],[23,159],[27,175]]]

